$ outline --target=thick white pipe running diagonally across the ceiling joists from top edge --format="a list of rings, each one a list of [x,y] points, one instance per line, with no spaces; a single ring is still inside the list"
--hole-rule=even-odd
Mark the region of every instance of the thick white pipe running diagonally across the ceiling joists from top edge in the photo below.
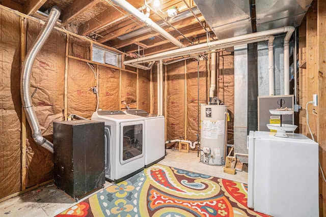
[[[151,29],[159,33],[161,36],[169,40],[171,43],[175,44],[177,47],[185,47],[181,42],[176,38],[171,36],[166,30],[157,25],[153,20],[147,17],[145,14],[137,10],[137,8],[130,5],[125,0],[111,0],[113,3],[117,4],[120,8],[124,9],[128,13],[132,14],[134,17],[139,19],[141,22],[146,23]]]

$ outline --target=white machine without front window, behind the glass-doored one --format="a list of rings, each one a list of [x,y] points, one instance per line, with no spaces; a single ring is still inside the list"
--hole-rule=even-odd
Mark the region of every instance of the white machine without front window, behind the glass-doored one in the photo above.
[[[125,110],[124,113],[142,117],[145,121],[145,168],[165,158],[165,119],[141,109]]]

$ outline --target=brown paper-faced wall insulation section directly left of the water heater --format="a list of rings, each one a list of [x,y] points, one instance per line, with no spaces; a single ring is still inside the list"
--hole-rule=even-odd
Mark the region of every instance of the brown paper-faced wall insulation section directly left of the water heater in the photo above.
[[[207,102],[206,60],[199,61],[199,103]],[[198,130],[198,62],[187,60],[187,140],[197,140]],[[200,118],[200,108],[199,108]]]

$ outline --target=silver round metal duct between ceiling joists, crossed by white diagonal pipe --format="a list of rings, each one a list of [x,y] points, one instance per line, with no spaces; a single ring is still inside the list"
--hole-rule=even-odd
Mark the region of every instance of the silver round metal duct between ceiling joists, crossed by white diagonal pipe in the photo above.
[[[200,11],[199,11],[199,9],[197,7],[193,9],[193,12],[196,15],[200,13]],[[180,20],[184,20],[184,19],[186,19],[188,17],[191,17],[191,16],[193,16],[193,14],[190,11],[184,11],[184,12],[181,12],[180,14],[178,14],[176,17],[168,17],[167,21],[172,24],[172,23],[178,22]],[[156,22],[156,24],[159,25],[159,26],[166,26],[165,22],[163,22],[163,21],[158,21],[158,22]],[[138,29],[138,30],[134,30],[131,33],[119,36],[118,39],[123,41],[123,40],[133,38],[135,36],[143,35],[143,34],[148,33],[148,32],[150,32],[150,28],[141,28],[141,29]]]

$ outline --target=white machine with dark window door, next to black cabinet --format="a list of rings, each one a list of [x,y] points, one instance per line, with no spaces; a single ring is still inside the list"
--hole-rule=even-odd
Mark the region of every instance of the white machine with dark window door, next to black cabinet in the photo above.
[[[105,178],[116,183],[145,166],[144,118],[122,111],[97,111],[92,120],[104,122]]]

